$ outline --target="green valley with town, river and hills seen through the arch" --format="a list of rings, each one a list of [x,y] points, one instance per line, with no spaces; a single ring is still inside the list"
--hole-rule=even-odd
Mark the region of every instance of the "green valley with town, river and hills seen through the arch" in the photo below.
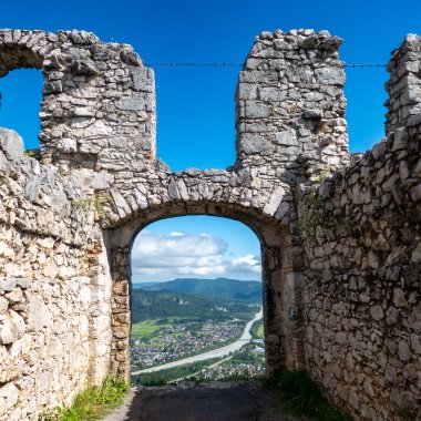
[[[248,324],[261,307],[261,284],[224,278],[207,283],[206,279],[175,279],[154,286],[146,284],[147,290],[134,286],[132,372],[142,371],[142,374],[134,376],[133,382],[151,384],[188,376],[220,379],[264,373],[263,320]],[[155,289],[150,290],[151,287]],[[143,373],[230,347],[244,335],[246,324],[253,340],[244,342],[229,357],[205,357],[206,360]]]

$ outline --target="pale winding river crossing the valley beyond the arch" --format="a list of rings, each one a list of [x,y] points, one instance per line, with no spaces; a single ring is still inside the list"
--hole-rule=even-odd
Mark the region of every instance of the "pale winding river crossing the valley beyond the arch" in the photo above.
[[[144,372],[154,372],[154,371],[165,370],[165,369],[177,367],[177,366],[188,364],[191,362],[208,360],[210,358],[222,358],[222,357],[228,356],[230,352],[238,351],[246,343],[248,343],[250,341],[250,339],[251,339],[251,335],[250,335],[251,326],[255,321],[260,320],[261,318],[263,318],[263,307],[260,308],[260,310],[258,312],[256,312],[255,317],[246,325],[246,327],[244,328],[242,337],[233,343],[226,345],[225,347],[222,347],[222,348],[213,349],[212,351],[199,353],[197,356],[184,358],[182,360],[167,362],[165,364],[151,367],[151,368],[144,369],[144,370],[133,371],[132,376],[142,374]]]

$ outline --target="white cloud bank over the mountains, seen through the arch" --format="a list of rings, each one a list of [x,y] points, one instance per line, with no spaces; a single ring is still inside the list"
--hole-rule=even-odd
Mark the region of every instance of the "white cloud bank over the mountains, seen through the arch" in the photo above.
[[[228,244],[208,234],[173,232],[158,235],[144,230],[132,249],[134,281],[167,280],[176,277],[234,277],[258,279],[260,258],[234,256]]]

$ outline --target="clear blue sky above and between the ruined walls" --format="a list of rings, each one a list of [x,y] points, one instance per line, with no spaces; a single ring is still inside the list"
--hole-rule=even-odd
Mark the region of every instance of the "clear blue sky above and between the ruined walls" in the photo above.
[[[391,0],[21,0],[19,7],[16,4],[14,0],[0,0],[0,27],[93,31],[102,41],[133,44],[146,63],[243,62],[254,37],[277,28],[327,29],[345,40],[340,49],[343,61],[387,63],[391,50],[399,47],[407,33],[421,33],[419,0],[404,3]],[[174,171],[225,168],[233,164],[237,73],[238,69],[229,68],[155,69],[158,156]],[[383,136],[387,78],[384,69],[347,69],[347,120],[352,152],[363,152]],[[0,125],[18,130],[27,147],[35,146],[41,97],[39,72],[12,72],[0,80],[0,91],[3,93]],[[182,219],[172,219],[174,225],[166,227],[166,235],[187,229],[185,222],[182,228],[177,227]],[[233,224],[233,228],[225,227],[220,234],[215,234],[216,223],[206,227],[193,218],[189,224],[197,226],[196,235],[214,233],[227,244],[234,244],[227,239],[227,233],[238,235],[234,234]],[[245,255],[255,253],[251,240],[249,245],[250,253],[246,250]]]

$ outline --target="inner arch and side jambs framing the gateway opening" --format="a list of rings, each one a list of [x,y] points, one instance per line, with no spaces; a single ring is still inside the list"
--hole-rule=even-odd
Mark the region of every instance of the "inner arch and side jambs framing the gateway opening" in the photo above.
[[[267,373],[304,362],[300,318],[301,260],[287,227],[233,204],[166,204],[105,232],[113,278],[111,372],[130,377],[130,253],[137,233],[164,218],[207,215],[235,219],[258,237],[263,259],[263,302]],[[288,311],[294,309],[294,311]]]

